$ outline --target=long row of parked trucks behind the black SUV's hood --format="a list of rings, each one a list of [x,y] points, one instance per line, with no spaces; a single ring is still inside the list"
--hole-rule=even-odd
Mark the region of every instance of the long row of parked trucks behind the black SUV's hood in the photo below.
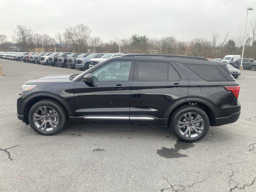
[[[86,70],[109,58],[122,56],[119,53],[56,53],[56,52],[1,52],[0,58],[32,62],[56,67]]]

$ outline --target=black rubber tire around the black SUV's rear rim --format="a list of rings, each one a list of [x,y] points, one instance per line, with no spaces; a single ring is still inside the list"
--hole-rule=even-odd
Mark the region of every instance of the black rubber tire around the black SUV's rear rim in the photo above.
[[[178,120],[180,118],[182,118],[182,115],[183,114],[186,114],[186,113],[189,113],[189,112],[192,112],[192,113],[196,113],[196,114],[199,114],[202,119],[204,120],[204,128],[203,130],[200,132],[200,134],[198,136],[195,136],[195,137],[186,137],[184,135],[182,135],[178,129]],[[191,106],[191,105],[187,105],[187,106],[183,106],[181,108],[178,108],[174,114],[172,115],[172,118],[171,118],[171,128],[172,128],[172,131],[173,133],[175,134],[175,136],[181,140],[181,141],[184,141],[184,142],[196,142],[202,138],[204,138],[204,136],[206,136],[208,130],[209,130],[209,127],[210,127],[210,121],[209,121],[209,118],[206,114],[206,112],[204,110],[202,110],[201,108],[197,107],[197,106]],[[194,124],[193,124],[194,125]],[[186,129],[186,126],[185,128]],[[188,127],[187,127],[188,129]],[[181,129],[180,129],[181,130]],[[192,128],[190,128],[190,130],[192,130],[194,132],[194,130]],[[189,131],[190,131],[189,130]],[[181,130],[182,131],[182,130]],[[195,133],[195,132],[194,132]]]

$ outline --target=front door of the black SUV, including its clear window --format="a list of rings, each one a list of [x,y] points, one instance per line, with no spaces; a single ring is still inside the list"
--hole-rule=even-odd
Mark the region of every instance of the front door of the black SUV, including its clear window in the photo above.
[[[134,62],[112,60],[92,73],[93,84],[76,82],[76,116],[84,122],[129,122]]]

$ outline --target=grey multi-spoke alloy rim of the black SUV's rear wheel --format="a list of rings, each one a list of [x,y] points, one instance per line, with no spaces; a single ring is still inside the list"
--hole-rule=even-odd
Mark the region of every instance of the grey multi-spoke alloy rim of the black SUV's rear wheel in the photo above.
[[[204,130],[204,119],[198,113],[187,112],[179,118],[178,130],[187,138],[199,136]]]

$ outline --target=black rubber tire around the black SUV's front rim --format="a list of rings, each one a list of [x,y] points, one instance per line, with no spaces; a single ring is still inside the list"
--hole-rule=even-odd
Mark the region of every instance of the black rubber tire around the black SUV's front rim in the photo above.
[[[43,130],[37,128],[36,124],[34,123],[34,120],[33,120],[34,112],[41,106],[49,106],[57,112],[57,114],[58,114],[58,125],[53,130],[43,131]],[[64,107],[59,102],[57,102],[55,100],[50,100],[50,99],[40,100],[40,101],[36,102],[30,108],[30,110],[28,112],[28,122],[29,122],[31,128],[35,132],[37,132],[39,134],[42,134],[42,135],[57,134],[58,132],[60,132],[60,130],[62,130],[64,128],[64,126],[66,124],[66,121],[67,121],[66,110],[64,109]]]

